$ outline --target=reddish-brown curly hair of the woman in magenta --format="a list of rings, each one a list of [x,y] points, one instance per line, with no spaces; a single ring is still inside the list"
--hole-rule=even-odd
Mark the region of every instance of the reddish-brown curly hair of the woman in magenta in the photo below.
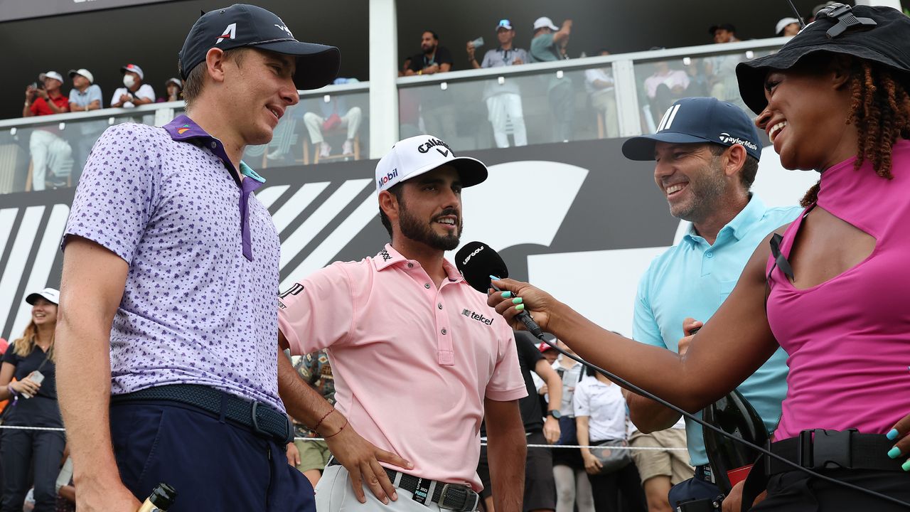
[[[854,60],[851,73],[851,106],[847,124],[855,124],[858,149],[854,169],[866,160],[875,174],[892,179],[891,153],[898,138],[910,138],[910,95],[901,78],[890,68]],[[800,201],[804,208],[818,200],[821,180]]]

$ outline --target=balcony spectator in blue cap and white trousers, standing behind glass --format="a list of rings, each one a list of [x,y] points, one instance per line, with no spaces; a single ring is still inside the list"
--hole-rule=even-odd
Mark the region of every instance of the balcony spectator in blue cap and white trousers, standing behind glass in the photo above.
[[[496,26],[496,38],[500,47],[487,50],[483,62],[478,63],[473,41],[468,42],[468,60],[474,69],[480,67],[518,66],[528,62],[528,52],[512,46],[515,39],[515,28],[507,19],[501,19]],[[524,111],[521,108],[521,91],[513,77],[506,78],[500,84],[488,80],[483,87],[483,100],[487,104],[487,114],[493,126],[493,139],[497,148],[509,147],[509,135],[506,127],[511,122],[515,146],[527,146],[528,133],[524,128]]]

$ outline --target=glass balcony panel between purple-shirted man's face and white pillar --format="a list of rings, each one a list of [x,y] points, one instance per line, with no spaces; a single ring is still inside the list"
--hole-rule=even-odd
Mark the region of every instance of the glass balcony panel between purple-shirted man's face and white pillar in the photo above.
[[[253,169],[369,158],[369,91],[301,97],[278,121],[271,142],[248,146]]]

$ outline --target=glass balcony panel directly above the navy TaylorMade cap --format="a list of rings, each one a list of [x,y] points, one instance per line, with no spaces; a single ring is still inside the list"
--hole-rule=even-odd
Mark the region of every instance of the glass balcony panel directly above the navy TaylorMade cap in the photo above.
[[[667,108],[682,97],[716,97],[733,103],[754,118],[745,106],[736,81],[736,65],[770,55],[774,50],[743,50],[716,55],[682,56],[635,62],[635,84],[642,133],[654,133]]]

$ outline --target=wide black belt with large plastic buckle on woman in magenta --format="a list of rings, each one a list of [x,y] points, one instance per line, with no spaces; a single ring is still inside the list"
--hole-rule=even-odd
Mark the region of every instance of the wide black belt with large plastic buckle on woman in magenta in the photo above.
[[[860,434],[855,429],[804,430],[771,444],[771,452],[807,469],[875,469],[903,471],[901,460],[887,456],[895,444],[885,435]],[[764,457],[768,476],[794,471],[793,466]]]

